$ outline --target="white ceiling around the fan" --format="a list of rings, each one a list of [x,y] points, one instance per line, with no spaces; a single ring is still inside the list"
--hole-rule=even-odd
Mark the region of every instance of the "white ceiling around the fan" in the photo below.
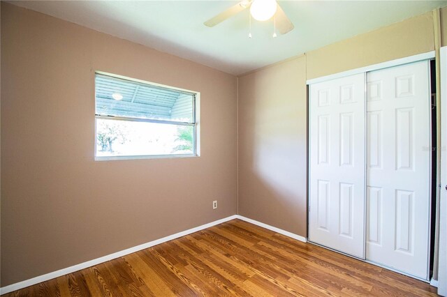
[[[252,22],[249,11],[208,28],[203,25],[238,1],[13,1],[59,17],[240,75],[338,40],[400,22],[447,1],[279,1],[295,24],[272,38],[273,24]]]

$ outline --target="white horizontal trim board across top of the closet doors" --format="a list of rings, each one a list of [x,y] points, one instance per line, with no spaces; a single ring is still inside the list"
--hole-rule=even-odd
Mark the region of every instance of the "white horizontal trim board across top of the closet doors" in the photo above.
[[[434,54],[435,54],[434,51],[425,52],[423,54],[415,54],[413,56],[406,56],[406,57],[400,58],[400,59],[395,59],[395,60],[377,63],[377,64],[373,64],[373,65],[369,65],[369,66],[365,66],[365,67],[361,67],[361,68],[343,71],[341,73],[335,73],[332,75],[325,75],[322,77],[307,79],[306,84],[315,84],[317,82],[326,82],[328,80],[336,79],[336,78],[340,78],[340,77],[356,75],[359,73],[367,73],[369,71],[390,68],[393,66],[401,66],[404,64],[414,63],[414,62],[418,62],[418,61],[430,60],[430,59],[434,59]]]

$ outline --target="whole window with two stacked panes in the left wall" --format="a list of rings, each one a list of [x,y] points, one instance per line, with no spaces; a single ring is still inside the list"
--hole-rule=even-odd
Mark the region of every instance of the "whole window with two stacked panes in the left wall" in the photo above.
[[[197,96],[96,73],[95,160],[197,155]]]

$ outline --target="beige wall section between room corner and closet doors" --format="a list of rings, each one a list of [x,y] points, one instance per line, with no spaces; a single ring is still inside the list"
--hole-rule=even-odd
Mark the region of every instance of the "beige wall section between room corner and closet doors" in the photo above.
[[[306,235],[305,56],[239,79],[239,214]]]

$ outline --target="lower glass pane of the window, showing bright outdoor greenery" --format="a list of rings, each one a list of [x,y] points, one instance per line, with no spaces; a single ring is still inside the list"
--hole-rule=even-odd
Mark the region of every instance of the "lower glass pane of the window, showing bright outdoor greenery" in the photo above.
[[[96,156],[192,154],[194,127],[96,119]]]

